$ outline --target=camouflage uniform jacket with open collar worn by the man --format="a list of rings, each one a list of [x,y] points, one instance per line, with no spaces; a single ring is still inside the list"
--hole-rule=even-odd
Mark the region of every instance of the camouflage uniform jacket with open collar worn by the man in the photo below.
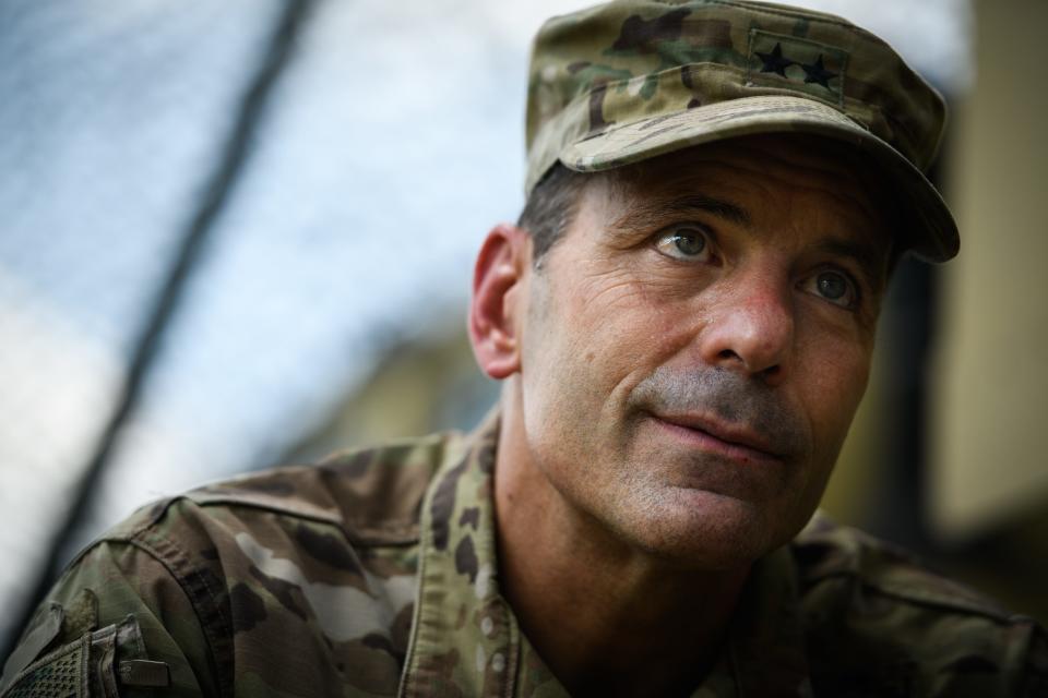
[[[84,551],[8,696],[567,695],[499,593],[497,422],[141,509]],[[693,696],[1048,695],[1048,641],[817,517],[760,561]]]

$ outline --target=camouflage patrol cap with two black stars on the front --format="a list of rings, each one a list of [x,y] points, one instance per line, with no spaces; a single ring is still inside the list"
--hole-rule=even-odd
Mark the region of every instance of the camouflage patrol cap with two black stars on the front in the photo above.
[[[735,136],[815,134],[880,164],[902,244],[943,262],[957,228],[922,171],[944,121],[942,97],[841,17],[742,0],[616,0],[553,17],[535,39],[526,188],[558,160],[592,172]]]

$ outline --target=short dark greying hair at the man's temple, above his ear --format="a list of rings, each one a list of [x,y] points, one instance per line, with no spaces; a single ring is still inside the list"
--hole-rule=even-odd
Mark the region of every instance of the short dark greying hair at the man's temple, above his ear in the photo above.
[[[532,236],[532,263],[536,268],[574,219],[585,184],[586,174],[558,161],[528,195],[516,225]]]

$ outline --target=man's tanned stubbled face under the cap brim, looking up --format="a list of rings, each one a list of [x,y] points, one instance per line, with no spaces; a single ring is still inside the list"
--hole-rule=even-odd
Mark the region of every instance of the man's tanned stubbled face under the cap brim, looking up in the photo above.
[[[667,559],[727,567],[786,542],[866,387],[886,238],[849,166],[808,140],[595,177],[523,301],[529,459]]]

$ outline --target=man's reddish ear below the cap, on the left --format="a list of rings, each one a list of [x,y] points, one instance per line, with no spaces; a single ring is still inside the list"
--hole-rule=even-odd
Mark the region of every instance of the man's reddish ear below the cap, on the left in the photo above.
[[[469,342],[480,369],[496,380],[521,368],[520,320],[532,263],[532,238],[521,228],[496,226],[477,255],[469,302]]]

